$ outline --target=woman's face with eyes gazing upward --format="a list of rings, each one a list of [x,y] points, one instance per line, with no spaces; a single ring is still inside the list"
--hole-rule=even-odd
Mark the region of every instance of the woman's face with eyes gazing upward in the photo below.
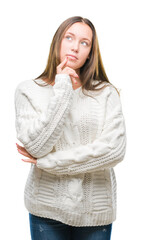
[[[67,66],[79,72],[89,56],[91,45],[91,28],[85,23],[74,23],[61,41],[60,61],[68,57]]]

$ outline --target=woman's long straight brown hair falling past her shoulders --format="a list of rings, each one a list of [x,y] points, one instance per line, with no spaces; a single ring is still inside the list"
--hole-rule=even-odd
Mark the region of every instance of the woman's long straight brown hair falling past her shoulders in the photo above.
[[[51,84],[54,81],[56,75],[56,68],[60,64],[60,46],[62,38],[68,28],[70,28],[71,25],[76,22],[85,23],[92,30],[92,46],[89,53],[89,58],[80,68],[80,80],[82,84],[82,90],[103,89],[106,87],[106,84],[103,85],[103,83],[109,83],[113,85],[112,83],[110,83],[103,66],[95,27],[90,20],[88,20],[87,18],[82,18],[80,16],[68,18],[59,26],[56,33],[54,34],[50,46],[50,52],[46,68],[40,76],[35,78],[35,80],[39,78],[42,78],[43,80],[47,79],[48,84]],[[98,86],[101,84],[103,85],[103,87],[99,88]]]

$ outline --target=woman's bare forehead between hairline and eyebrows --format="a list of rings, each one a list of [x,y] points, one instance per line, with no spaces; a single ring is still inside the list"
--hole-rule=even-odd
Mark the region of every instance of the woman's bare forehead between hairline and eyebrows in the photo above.
[[[67,32],[79,35],[82,38],[89,36],[92,39],[92,30],[86,23],[74,23],[67,29],[66,33]]]

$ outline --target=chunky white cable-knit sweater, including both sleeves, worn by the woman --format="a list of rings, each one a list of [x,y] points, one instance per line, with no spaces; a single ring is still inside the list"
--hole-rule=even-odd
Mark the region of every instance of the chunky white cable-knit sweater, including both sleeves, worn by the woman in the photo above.
[[[36,80],[43,84],[43,80]],[[17,139],[35,158],[24,191],[27,210],[71,226],[116,219],[113,167],[125,155],[126,129],[116,89],[73,90],[69,75],[55,84],[33,80],[15,90]]]

